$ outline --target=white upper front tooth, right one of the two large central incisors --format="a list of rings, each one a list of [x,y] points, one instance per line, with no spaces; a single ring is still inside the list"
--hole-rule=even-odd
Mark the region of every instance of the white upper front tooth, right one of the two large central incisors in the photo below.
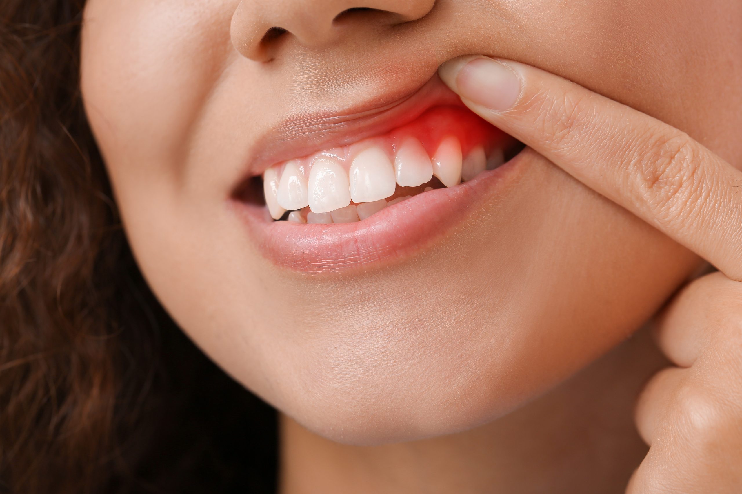
[[[394,193],[392,162],[381,147],[358,153],[350,165],[350,197],[353,202],[372,202]]]

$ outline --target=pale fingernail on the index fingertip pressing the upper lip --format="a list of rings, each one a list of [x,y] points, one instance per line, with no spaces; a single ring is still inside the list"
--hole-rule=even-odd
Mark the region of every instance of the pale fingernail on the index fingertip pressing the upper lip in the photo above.
[[[508,110],[520,96],[520,78],[513,69],[486,57],[447,61],[439,73],[459,96],[490,110]]]

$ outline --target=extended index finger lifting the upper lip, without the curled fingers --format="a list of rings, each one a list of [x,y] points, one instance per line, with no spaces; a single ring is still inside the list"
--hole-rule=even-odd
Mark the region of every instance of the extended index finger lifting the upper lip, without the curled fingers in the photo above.
[[[439,74],[483,119],[742,280],[742,172],[686,133],[513,61],[467,56]]]

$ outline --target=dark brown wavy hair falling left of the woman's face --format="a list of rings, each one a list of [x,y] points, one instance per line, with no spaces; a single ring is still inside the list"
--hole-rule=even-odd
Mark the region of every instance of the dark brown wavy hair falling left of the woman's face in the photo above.
[[[84,0],[0,0],[0,493],[275,489],[275,414],[157,304],[79,93]]]

